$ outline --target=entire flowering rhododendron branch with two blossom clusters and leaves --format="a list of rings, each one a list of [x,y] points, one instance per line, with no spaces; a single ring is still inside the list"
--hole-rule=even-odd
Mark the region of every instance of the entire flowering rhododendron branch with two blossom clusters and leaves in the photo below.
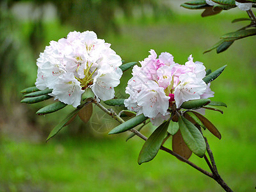
[[[52,97],[58,99],[39,109],[37,115],[53,113],[67,105],[76,108],[52,129],[47,141],[77,115],[83,122],[88,122],[94,104],[120,123],[109,134],[130,131],[127,140],[135,135],[145,140],[138,164],[151,161],[159,150],[163,150],[216,180],[226,191],[232,191],[221,179],[204,136],[204,131],[210,131],[221,139],[220,132],[204,116],[204,111],[223,113],[218,107],[227,107],[223,102],[209,99],[214,97],[210,84],[226,65],[211,72],[205,70],[203,63],[194,62],[192,56],[180,65],[173,61],[172,54],[162,52],[157,58],[154,50],[150,51],[148,58],[140,61],[141,67],[136,65],[137,62],[122,64],[120,56],[110,49],[110,44],[99,40],[92,31],[74,31],[67,38],[52,41],[36,64],[36,86],[21,91],[24,94],[21,102],[33,104]],[[131,67],[133,77],[125,91],[130,96],[128,99],[116,98],[114,87],[120,83],[122,73]],[[105,105],[127,109],[117,114],[102,105],[100,100]],[[149,123],[156,129],[147,138],[140,130]],[[164,147],[170,139],[172,150]],[[211,172],[189,161],[191,154],[204,158]]]

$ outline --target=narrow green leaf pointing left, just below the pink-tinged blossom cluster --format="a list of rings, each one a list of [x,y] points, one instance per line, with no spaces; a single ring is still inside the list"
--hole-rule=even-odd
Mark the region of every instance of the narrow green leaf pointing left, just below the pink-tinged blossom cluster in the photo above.
[[[143,114],[135,116],[134,118],[127,120],[123,124],[118,125],[114,129],[109,131],[108,134],[116,134],[116,133],[128,131],[129,129],[132,129],[133,127],[136,127],[136,125],[139,125],[145,120],[147,120],[147,118],[148,117],[144,116]]]

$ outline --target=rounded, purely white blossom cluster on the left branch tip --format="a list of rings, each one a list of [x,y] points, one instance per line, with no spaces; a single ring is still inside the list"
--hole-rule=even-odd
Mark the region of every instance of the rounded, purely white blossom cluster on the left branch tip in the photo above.
[[[49,95],[74,107],[88,87],[98,100],[113,99],[122,76],[120,56],[93,31],[74,31],[58,42],[51,41],[36,65],[36,88],[52,89]]]

